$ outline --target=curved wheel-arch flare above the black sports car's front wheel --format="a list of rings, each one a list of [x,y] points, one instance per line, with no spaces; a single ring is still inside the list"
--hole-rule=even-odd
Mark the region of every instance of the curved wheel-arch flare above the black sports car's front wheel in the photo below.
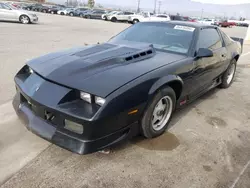
[[[151,96],[153,95],[159,88],[161,88],[163,85],[173,82],[173,81],[178,81],[181,83],[181,85],[183,85],[183,81],[182,79],[177,76],[177,75],[168,75],[168,76],[164,76],[161,77],[160,79],[158,79],[150,88],[148,95]]]

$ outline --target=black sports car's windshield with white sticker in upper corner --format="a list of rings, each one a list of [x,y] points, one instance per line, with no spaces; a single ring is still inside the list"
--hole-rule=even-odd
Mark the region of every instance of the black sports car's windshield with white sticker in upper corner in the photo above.
[[[153,44],[156,49],[186,54],[195,28],[170,23],[138,23],[121,32],[111,42],[134,41]]]

